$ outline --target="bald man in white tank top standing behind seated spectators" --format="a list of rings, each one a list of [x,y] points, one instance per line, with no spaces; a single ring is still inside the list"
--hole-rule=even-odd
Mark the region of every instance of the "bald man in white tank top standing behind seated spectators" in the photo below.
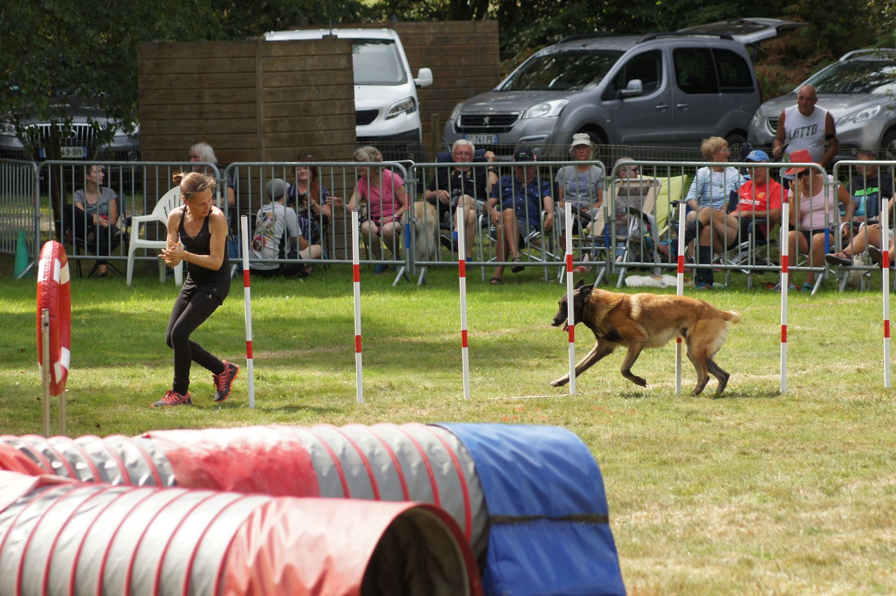
[[[784,108],[778,117],[778,132],[772,143],[771,154],[780,158],[787,146],[788,154],[805,149],[812,160],[825,168],[831,165],[840,142],[831,113],[824,108],[816,108],[818,94],[812,85],[803,85],[797,93],[797,105]],[[827,151],[824,145],[827,143]]]

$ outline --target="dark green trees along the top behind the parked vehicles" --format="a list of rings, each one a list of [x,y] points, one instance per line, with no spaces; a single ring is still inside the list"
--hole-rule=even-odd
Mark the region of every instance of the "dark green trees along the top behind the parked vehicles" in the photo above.
[[[496,19],[505,73],[538,48],[574,33],[648,33],[744,16],[779,17],[810,27],[754,48],[766,98],[789,91],[850,49],[896,47],[892,0],[64,0],[0,3],[0,114],[36,114],[65,123],[56,91],[94,100],[111,135],[137,119],[137,45],[153,40],[246,39],[267,30],[329,23]],[[176,90],[175,90],[176,91]]]

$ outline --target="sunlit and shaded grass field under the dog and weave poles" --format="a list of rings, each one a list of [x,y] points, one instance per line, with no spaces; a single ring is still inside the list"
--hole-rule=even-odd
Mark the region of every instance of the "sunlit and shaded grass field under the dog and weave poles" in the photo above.
[[[7,263],[7,261],[9,263]],[[40,432],[34,280],[0,276],[0,432]],[[246,376],[211,402],[211,374],[193,371],[193,407],[152,410],[169,388],[164,344],[177,292],[150,269],[134,281],[72,282],[68,430],[133,435],[154,428],[379,421],[557,425],[582,437],[607,483],[610,524],[630,594],[887,594],[896,591],[896,406],[883,389],[879,292],[791,293],[788,393],[779,394],[779,302],[766,289],[703,292],[744,320],[716,358],[731,373],[674,392],[674,344],[622,354],[579,378],[578,394],[549,382],[567,367],[566,335],[549,326],[563,289],[508,274],[469,285],[472,399],[462,399],[457,279],[426,287],[362,273],[366,402],[355,402],[349,270],[306,281],[254,281],[255,392]],[[768,281],[773,276],[766,276]],[[802,276],[798,276],[800,279]],[[688,290],[693,294],[694,290]],[[577,329],[578,355],[590,333]],[[242,287],[194,339],[245,363]],[[523,395],[548,395],[516,400]]]

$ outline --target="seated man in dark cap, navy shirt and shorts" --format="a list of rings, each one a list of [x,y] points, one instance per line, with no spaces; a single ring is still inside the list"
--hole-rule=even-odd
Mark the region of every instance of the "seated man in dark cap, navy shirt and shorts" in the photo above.
[[[535,154],[528,147],[521,147],[513,153],[513,175],[503,176],[492,186],[486,203],[489,219],[497,226],[497,259],[521,262],[520,246],[530,233],[537,230],[550,231],[554,225],[554,199],[548,180],[538,180]],[[496,208],[500,205],[500,210]],[[542,224],[541,211],[545,220]],[[523,266],[514,264],[511,271],[521,272]],[[504,283],[504,265],[495,268],[489,281],[492,285]]]

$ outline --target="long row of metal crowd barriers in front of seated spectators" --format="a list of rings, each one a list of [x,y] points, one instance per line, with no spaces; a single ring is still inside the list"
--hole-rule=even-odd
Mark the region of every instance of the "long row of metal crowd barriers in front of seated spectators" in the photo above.
[[[625,156],[623,156],[625,158]],[[596,192],[602,194],[602,203],[599,209],[579,209],[573,229],[573,263],[593,269],[596,282],[600,283],[607,275],[616,274],[617,285],[625,282],[625,276],[633,269],[648,269],[653,272],[671,270],[675,268],[674,259],[669,259],[661,250],[661,243],[670,240],[676,231],[675,220],[680,217],[682,211],[681,202],[685,201],[689,187],[693,184],[694,172],[699,168],[715,167],[716,162],[706,161],[649,161],[649,160],[619,160],[609,170],[599,160],[589,162],[581,161],[538,161],[531,172],[531,181],[543,190],[544,194],[551,196],[553,225],[550,230],[544,230],[545,218],[548,211],[546,202],[539,199],[538,225],[535,218],[531,221],[528,217],[519,217],[520,234],[523,238],[519,246],[519,255],[522,262],[513,261],[510,256],[500,250],[501,228],[495,226],[495,217],[498,223],[503,223],[500,205],[514,208],[518,216],[526,212],[525,203],[514,203],[513,196],[508,194],[508,188],[513,177],[521,174],[526,168],[532,166],[532,162],[513,162],[497,160],[495,162],[430,162],[407,164],[386,161],[382,163],[360,164],[357,162],[238,162],[230,164],[221,171],[211,163],[190,162],[152,162],[152,161],[70,161],[55,160],[44,161],[39,164],[28,161],[0,160],[0,252],[14,254],[16,251],[19,232],[26,232],[26,245],[32,265],[37,262],[39,246],[50,238],[68,242],[67,246],[72,253],[70,258],[75,263],[97,259],[99,246],[96,238],[85,242],[89,226],[85,220],[79,220],[76,224],[66,217],[66,212],[73,209],[73,195],[84,186],[85,177],[90,173],[89,168],[100,165],[104,168],[104,182],[116,195],[117,211],[116,227],[120,229],[121,236],[112,238],[104,236],[106,242],[104,259],[110,265],[120,264],[127,258],[127,243],[132,234],[151,234],[153,237],[165,238],[164,225],[143,226],[138,232],[129,226],[131,218],[152,212],[155,204],[168,190],[174,186],[171,177],[174,172],[184,169],[203,168],[212,176],[219,179],[218,204],[228,214],[233,237],[229,244],[231,257],[238,257],[238,247],[241,246],[239,238],[238,216],[247,214],[253,221],[253,235],[257,236],[256,217],[262,208],[272,203],[272,198],[266,192],[266,186],[273,178],[282,179],[289,187],[286,203],[292,206],[300,221],[300,228],[304,229],[303,236],[311,242],[316,241],[321,246],[321,254],[318,257],[289,257],[278,255],[277,258],[260,258],[250,255],[250,263],[259,264],[298,264],[303,266],[319,266],[328,263],[348,264],[351,262],[351,229],[350,212],[345,208],[358,184],[358,168],[379,168],[382,171],[390,171],[401,177],[407,201],[408,215],[401,221],[399,233],[396,234],[394,251],[384,246],[382,235],[376,237],[372,234],[370,224],[362,224],[361,243],[366,248],[366,258],[362,263],[368,265],[380,265],[383,268],[396,270],[395,282],[404,277],[404,273],[418,275],[418,282],[425,280],[426,269],[436,266],[456,266],[458,256],[457,242],[453,232],[457,229],[455,221],[456,211],[453,207],[461,200],[461,196],[469,196],[475,203],[476,214],[474,225],[467,228],[467,234],[472,234],[473,243],[468,251],[469,266],[478,266],[482,272],[482,279],[487,279],[487,268],[504,266],[543,267],[545,279],[548,280],[549,268],[556,267],[556,279],[562,281],[564,275],[564,230],[561,229],[564,222],[565,205],[559,201],[556,184],[557,172],[565,167],[593,165],[599,168],[601,182],[598,190],[589,188],[587,201],[582,203],[593,204],[598,202]],[[779,178],[780,172],[788,168],[787,163],[752,163],[752,162],[728,162],[724,164],[728,168],[737,168],[741,173],[749,171],[749,168],[766,168],[770,170],[772,178]],[[840,161],[832,170],[833,180],[829,181],[825,170],[818,165],[811,165],[815,171],[821,173],[826,182],[825,188],[836,185],[842,181],[852,186],[857,186],[865,178],[862,176],[864,168],[873,166],[878,168],[880,177],[896,175],[896,161],[881,160],[850,160]],[[458,178],[445,176],[445,173],[457,171],[458,168],[471,168],[474,177],[482,177],[478,174],[485,170],[485,178],[494,183],[494,187],[487,185],[486,191],[481,191],[481,186],[467,188],[458,183]],[[301,171],[305,169],[310,173],[314,170],[317,185],[314,189],[314,198],[311,192],[302,192]],[[740,174],[738,174],[739,176]],[[724,177],[724,175],[723,175]],[[496,178],[496,179],[495,179]],[[392,191],[392,188],[381,187],[379,191]],[[435,193],[433,191],[436,191]],[[444,190],[447,196],[439,196],[437,191]],[[864,189],[867,190],[867,189]],[[786,192],[782,190],[782,195]],[[814,189],[811,190],[814,193]],[[831,190],[836,194],[836,190]],[[852,192],[857,192],[856,188]],[[884,193],[886,190],[884,190]],[[427,194],[429,198],[427,200]],[[568,198],[568,197],[567,197]],[[783,198],[783,196],[779,197]],[[447,204],[444,201],[447,201]],[[467,199],[463,199],[466,201]],[[397,210],[400,205],[394,202],[389,206]],[[441,209],[436,203],[441,203]],[[800,219],[799,202],[791,204],[791,210],[795,213],[796,221]],[[426,207],[428,205],[428,207]],[[581,205],[579,205],[581,207]],[[369,217],[369,205],[358,205],[364,217]],[[878,206],[879,207],[879,206]],[[685,208],[686,211],[686,208]],[[876,212],[876,211],[875,211]],[[710,212],[707,225],[714,226],[719,223],[719,212]],[[440,217],[441,216],[441,217]],[[364,219],[362,217],[362,220]],[[382,222],[381,222],[382,223]],[[766,216],[761,224],[767,229],[766,238],[757,241],[754,235],[743,238],[738,229],[737,235],[732,238],[728,235],[728,228],[720,235],[723,244],[719,250],[711,246],[711,260],[705,262],[695,251],[692,263],[688,269],[715,269],[725,272],[725,284],[728,285],[732,272],[742,272],[747,275],[747,283],[752,286],[753,275],[757,272],[778,272],[780,264],[780,242],[788,241],[788,238],[780,238],[778,221],[773,221]],[[824,228],[834,229],[840,222],[840,213],[826,210],[824,214]],[[80,228],[78,225],[80,224]],[[789,236],[795,236],[792,231]],[[846,246],[849,237],[844,238],[842,231],[845,228],[836,229],[828,239],[824,253],[840,250]],[[853,230],[857,231],[857,230]],[[253,238],[255,239],[255,238]],[[420,245],[420,243],[424,243]],[[250,245],[252,243],[250,242]],[[435,246],[432,246],[435,245]],[[151,251],[150,251],[151,252]],[[861,251],[866,253],[866,248]],[[705,254],[705,253],[704,253]],[[379,255],[379,256],[377,256]],[[503,258],[499,259],[499,256]],[[690,256],[690,255],[689,255]],[[850,272],[870,272],[875,269],[870,264],[853,263],[851,265],[838,265],[832,269],[824,261],[818,262],[810,250],[808,255],[791,255],[793,272],[814,272],[819,276],[814,289],[817,289],[823,277],[831,272],[836,272],[840,277],[840,289],[844,286],[844,280]],[[390,258],[391,257],[391,258]],[[156,255],[138,256],[138,260],[144,262],[157,262]],[[238,261],[234,259],[234,265]],[[509,269],[508,269],[509,271]],[[864,283],[864,278],[863,278]]]

